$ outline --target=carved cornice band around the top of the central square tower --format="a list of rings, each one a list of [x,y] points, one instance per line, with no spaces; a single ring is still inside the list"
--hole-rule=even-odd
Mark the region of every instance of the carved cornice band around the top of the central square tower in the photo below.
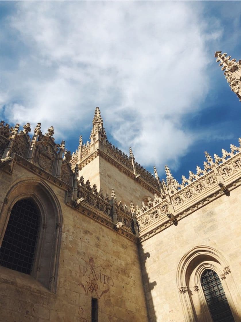
[[[125,175],[128,175],[130,178],[135,180],[139,185],[143,186],[145,189],[150,191],[152,194],[159,194],[160,191],[158,189],[155,189],[152,185],[150,185],[148,182],[146,182],[141,176],[136,179],[136,176],[134,175],[133,171],[126,167],[124,164],[116,160],[113,156],[109,155],[106,151],[97,148],[92,153],[90,153],[87,157],[85,157],[81,163],[79,164],[79,170],[81,170],[84,166],[86,166],[88,163],[90,163],[92,160],[94,160],[97,156],[103,157],[105,160],[107,160],[110,164],[115,166],[118,170],[125,173]]]

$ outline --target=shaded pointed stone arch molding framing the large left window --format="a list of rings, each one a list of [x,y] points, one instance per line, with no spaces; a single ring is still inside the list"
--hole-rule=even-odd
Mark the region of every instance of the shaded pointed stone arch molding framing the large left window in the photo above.
[[[21,178],[10,187],[1,209],[0,245],[14,204],[24,198],[31,198],[41,213],[31,276],[56,293],[63,220],[60,202],[46,182],[41,179]]]

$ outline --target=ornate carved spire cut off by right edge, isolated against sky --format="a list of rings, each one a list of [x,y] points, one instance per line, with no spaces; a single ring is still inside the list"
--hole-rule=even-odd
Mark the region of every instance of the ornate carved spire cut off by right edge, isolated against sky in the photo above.
[[[217,57],[217,62],[220,62],[221,70],[225,71],[224,75],[231,90],[241,101],[241,59],[239,62],[236,62],[235,58],[230,60],[231,56],[227,56],[227,53],[222,54],[222,52],[215,52],[214,57]]]

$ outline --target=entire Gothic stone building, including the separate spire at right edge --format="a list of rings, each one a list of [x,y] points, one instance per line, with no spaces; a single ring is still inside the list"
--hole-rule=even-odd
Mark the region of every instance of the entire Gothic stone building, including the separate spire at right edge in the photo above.
[[[179,183],[112,145],[99,108],[72,154],[30,131],[0,123],[1,321],[241,320],[241,138]]]

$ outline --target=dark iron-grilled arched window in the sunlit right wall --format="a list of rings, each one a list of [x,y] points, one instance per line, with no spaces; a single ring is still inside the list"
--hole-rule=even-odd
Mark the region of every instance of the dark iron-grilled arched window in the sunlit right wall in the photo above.
[[[201,285],[213,322],[235,322],[218,274],[205,270]]]

